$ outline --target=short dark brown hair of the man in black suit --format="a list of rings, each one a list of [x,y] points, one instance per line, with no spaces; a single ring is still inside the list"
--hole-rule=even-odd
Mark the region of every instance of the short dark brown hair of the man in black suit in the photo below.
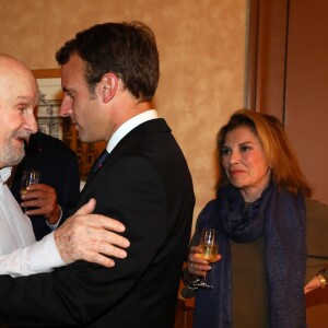
[[[112,72],[139,101],[151,101],[160,78],[155,36],[141,22],[105,23],[79,32],[56,54],[60,66],[72,55],[85,62],[84,79],[91,91]]]

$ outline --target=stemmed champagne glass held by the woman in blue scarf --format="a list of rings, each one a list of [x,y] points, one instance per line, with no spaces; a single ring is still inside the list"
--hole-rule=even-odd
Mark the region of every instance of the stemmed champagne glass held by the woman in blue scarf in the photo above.
[[[198,244],[202,253],[198,253],[197,257],[202,258],[210,263],[215,262],[218,258],[219,247],[215,234],[216,232],[213,229],[203,229]],[[197,282],[197,286],[201,289],[213,289],[212,285],[209,285],[207,283],[206,276],[199,279],[199,281]]]

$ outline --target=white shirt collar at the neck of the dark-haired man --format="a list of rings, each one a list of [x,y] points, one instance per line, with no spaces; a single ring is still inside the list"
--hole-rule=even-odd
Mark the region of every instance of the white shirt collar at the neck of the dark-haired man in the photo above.
[[[155,118],[159,118],[157,112],[155,109],[149,109],[127,120],[115,131],[115,133],[109,139],[106,148],[107,152],[110,153],[117,145],[117,143],[131,130],[133,130],[141,124]]]

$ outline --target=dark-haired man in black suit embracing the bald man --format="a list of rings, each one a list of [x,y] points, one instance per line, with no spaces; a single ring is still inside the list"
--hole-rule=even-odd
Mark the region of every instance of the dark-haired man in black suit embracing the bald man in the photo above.
[[[160,74],[154,35],[138,22],[95,25],[56,58],[66,92],[60,114],[82,141],[108,142],[77,208],[95,198],[95,212],[122,222],[131,246],[112,269],[78,261],[0,277],[0,323],[171,328],[195,195],[183,152],[150,103]]]

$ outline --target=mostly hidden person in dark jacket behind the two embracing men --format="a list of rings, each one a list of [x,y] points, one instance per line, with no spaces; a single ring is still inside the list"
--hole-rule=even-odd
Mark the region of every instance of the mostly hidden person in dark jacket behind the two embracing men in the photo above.
[[[39,184],[21,195],[24,169],[40,172]],[[80,195],[80,174],[75,153],[61,140],[40,131],[31,134],[25,157],[17,165],[11,191],[33,225],[36,241],[51,232],[49,224],[62,223]]]

